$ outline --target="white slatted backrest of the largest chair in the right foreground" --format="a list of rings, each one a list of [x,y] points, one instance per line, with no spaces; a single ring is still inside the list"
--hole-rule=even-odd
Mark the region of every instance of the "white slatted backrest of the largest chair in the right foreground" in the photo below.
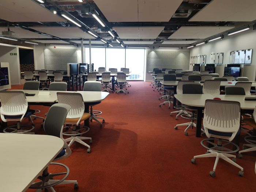
[[[207,99],[204,107],[204,131],[208,138],[221,138],[232,141],[240,128],[240,103]],[[214,131],[210,132],[208,129]],[[223,136],[222,133],[232,133]],[[216,134],[216,135],[215,135]]]

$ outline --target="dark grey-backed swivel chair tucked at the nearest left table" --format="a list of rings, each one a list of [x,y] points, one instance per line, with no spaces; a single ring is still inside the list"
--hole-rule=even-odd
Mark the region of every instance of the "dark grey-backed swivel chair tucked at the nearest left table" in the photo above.
[[[69,110],[70,110],[69,105],[56,103],[51,106],[48,116],[45,119],[44,130],[46,134],[58,137],[62,139],[64,142],[63,150],[60,151],[60,153],[53,159],[53,161],[68,158],[72,153],[67,142],[65,141],[65,139],[63,139],[63,136],[62,136],[63,125]],[[45,150],[48,150],[48,149],[45,149]],[[76,180],[65,180],[69,175],[68,166],[62,163],[55,163],[55,162],[54,163],[51,162],[50,165],[57,165],[57,166],[64,167],[65,172],[49,173],[48,171],[49,166],[47,166],[43,171],[42,175],[38,177],[40,181],[34,182],[33,184],[30,185],[29,188],[38,189],[38,191],[41,191],[40,189],[48,189],[47,191],[52,191],[52,192],[55,192],[55,190],[53,189],[53,186],[61,185],[61,184],[74,184],[74,187],[78,188],[78,182]],[[61,180],[54,179],[54,177],[61,176],[61,175],[64,175],[64,177]]]

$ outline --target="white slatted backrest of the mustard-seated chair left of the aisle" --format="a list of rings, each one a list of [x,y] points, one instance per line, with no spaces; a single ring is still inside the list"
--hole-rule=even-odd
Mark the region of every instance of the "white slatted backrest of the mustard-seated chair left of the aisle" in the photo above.
[[[71,109],[68,112],[67,118],[78,118],[76,125],[79,125],[80,120],[84,113],[84,102],[83,102],[82,94],[57,92],[57,98],[58,98],[58,103],[67,104],[71,107]],[[68,124],[67,123],[68,119],[66,119],[65,122],[66,124]]]

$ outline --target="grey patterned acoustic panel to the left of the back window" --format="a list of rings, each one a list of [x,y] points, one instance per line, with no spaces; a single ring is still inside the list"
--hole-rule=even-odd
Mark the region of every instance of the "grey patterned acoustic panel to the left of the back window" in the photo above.
[[[44,49],[45,68],[67,70],[67,63],[77,63],[76,49]]]

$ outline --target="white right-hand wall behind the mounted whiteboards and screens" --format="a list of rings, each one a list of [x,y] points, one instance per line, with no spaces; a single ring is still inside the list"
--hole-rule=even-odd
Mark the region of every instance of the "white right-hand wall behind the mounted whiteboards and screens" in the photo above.
[[[224,53],[223,64],[217,66],[216,73],[223,76],[225,64],[229,64],[229,53],[233,50],[253,49],[252,51],[252,64],[244,65],[243,73],[241,76],[248,77],[250,81],[255,81],[256,72],[256,31],[244,32],[225,36],[222,40],[209,42],[208,44],[199,45],[198,47],[191,48],[190,56],[199,56],[206,54],[206,63],[210,63],[211,53]]]

